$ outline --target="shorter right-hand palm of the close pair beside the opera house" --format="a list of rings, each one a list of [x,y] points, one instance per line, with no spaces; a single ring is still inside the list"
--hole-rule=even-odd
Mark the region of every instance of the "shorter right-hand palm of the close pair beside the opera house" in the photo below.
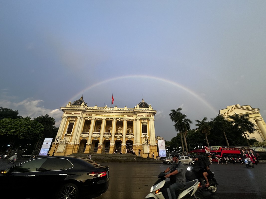
[[[187,116],[186,114],[181,114],[179,121],[174,124],[174,128],[176,129],[176,131],[178,130],[181,134],[183,134],[184,142],[186,145],[186,153],[188,153],[188,145],[186,143],[186,134],[188,133],[188,130],[190,129],[190,124],[192,124],[192,121],[186,118],[186,116]]]

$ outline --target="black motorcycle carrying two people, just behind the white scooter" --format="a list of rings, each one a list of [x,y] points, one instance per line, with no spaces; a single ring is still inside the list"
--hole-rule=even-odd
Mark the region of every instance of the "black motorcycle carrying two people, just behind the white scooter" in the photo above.
[[[201,181],[201,184],[202,184],[202,188],[200,188],[202,191],[209,191],[211,193],[214,193],[217,191],[217,185],[219,185],[217,183],[217,180],[214,178],[214,172],[211,172],[209,171],[208,172],[208,181],[209,181],[209,184],[210,186],[209,187],[205,187],[205,183],[206,183],[206,180],[204,179],[204,177],[200,178],[199,180]],[[194,180],[194,179],[197,179],[195,173],[193,172],[193,166],[189,166],[187,168],[187,171],[186,171],[186,180]]]

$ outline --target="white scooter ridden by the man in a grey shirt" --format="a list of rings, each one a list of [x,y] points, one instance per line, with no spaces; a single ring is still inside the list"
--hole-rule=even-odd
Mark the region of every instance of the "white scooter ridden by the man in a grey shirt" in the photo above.
[[[165,184],[165,176],[166,174],[164,172],[161,172],[158,175],[158,179],[153,186],[150,189],[150,192],[145,198],[148,199],[165,199],[162,188]],[[182,198],[190,198],[190,199],[201,199],[200,197],[196,196],[196,192],[200,186],[200,182],[198,179],[188,181],[185,183],[184,188],[179,189],[176,191],[176,196],[177,199],[182,199]]]

